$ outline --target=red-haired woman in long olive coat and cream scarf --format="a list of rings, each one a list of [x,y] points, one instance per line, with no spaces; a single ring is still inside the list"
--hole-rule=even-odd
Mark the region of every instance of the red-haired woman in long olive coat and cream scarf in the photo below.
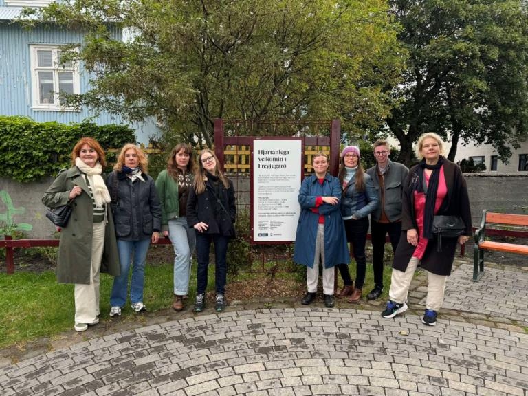
[[[100,144],[83,137],[72,151],[72,168],[61,172],[42,198],[49,208],[72,202],[72,215],[61,230],[57,281],[75,284],[76,331],[99,322],[100,272],[120,274],[111,199],[101,176],[104,164]]]

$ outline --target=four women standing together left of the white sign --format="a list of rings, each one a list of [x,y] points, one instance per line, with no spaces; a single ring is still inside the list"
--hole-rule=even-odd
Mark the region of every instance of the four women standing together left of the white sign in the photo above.
[[[184,309],[195,248],[195,311],[204,309],[211,242],[215,308],[225,308],[226,254],[236,218],[234,188],[212,151],[203,150],[199,159],[195,167],[192,148],[177,144],[166,169],[154,181],[147,173],[146,155],[135,144],[121,149],[109,175],[102,173],[105,153],[96,140],[83,137],[74,146],[72,167],[59,173],[42,201],[50,208],[72,206],[72,215],[61,230],[57,279],[74,283],[76,331],[99,322],[101,272],[114,276],[110,316],[121,315],[129,293],[131,309],[146,311],[146,254],[160,232],[170,238],[175,251],[173,309]]]

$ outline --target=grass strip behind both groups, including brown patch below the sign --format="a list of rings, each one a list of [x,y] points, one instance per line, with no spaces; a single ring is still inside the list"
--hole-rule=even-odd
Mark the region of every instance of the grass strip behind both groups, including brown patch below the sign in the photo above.
[[[192,265],[189,285],[189,300],[193,303],[196,293],[196,263]],[[355,278],[355,262],[349,266],[352,278]],[[281,298],[302,296],[306,290],[306,271],[298,273],[276,274],[274,281],[265,274],[241,272],[237,276],[228,276],[229,300],[259,300],[262,296]],[[100,309],[101,319],[108,320],[109,298],[113,278],[101,274]],[[388,285],[391,282],[391,268],[384,272],[384,294],[386,300]],[[232,287],[230,287],[230,284]],[[339,277],[339,285],[342,281]],[[373,288],[372,266],[367,264],[364,298]],[[15,272],[12,275],[0,274],[2,290],[2,315],[0,316],[0,348],[22,343],[34,338],[53,338],[63,331],[74,327],[74,285],[56,282],[52,270],[43,272]],[[214,265],[209,267],[208,291],[214,290]],[[171,307],[173,299],[173,264],[160,263],[146,265],[144,303],[148,311],[158,311]],[[344,300],[340,307],[353,307]],[[122,316],[133,316],[129,302]]]

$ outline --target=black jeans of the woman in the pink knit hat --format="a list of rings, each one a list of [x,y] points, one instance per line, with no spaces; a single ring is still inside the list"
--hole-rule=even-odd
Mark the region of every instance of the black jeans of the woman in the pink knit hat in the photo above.
[[[362,289],[365,283],[366,272],[366,233],[369,232],[369,218],[364,217],[359,220],[349,219],[344,221],[344,230],[347,231],[347,241],[352,244],[355,259],[355,287]],[[350,277],[349,266],[347,264],[338,265],[338,270],[345,285],[353,285]]]

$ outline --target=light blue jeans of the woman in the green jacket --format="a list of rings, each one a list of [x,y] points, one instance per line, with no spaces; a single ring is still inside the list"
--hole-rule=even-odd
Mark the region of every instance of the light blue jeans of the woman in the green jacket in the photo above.
[[[189,292],[190,264],[196,246],[196,233],[189,228],[186,217],[168,221],[168,237],[174,248],[174,294],[186,296]]]

